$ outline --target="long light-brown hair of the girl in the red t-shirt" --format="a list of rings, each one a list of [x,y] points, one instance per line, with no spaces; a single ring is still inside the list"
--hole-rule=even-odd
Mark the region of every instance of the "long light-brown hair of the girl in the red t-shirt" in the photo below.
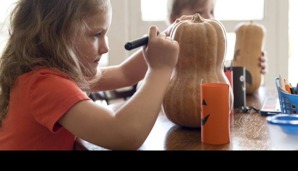
[[[0,126],[18,76],[35,66],[58,68],[89,88],[79,61],[85,18],[111,10],[109,0],[19,0],[10,15],[9,39],[0,58]],[[86,72],[86,71],[84,71]]]

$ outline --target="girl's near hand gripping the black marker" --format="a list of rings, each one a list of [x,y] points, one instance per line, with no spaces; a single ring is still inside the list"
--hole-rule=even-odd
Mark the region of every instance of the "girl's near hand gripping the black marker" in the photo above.
[[[149,68],[172,71],[178,61],[179,44],[163,32],[156,36],[158,32],[156,26],[150,27],[148,45],[143,46],[146,63]]]

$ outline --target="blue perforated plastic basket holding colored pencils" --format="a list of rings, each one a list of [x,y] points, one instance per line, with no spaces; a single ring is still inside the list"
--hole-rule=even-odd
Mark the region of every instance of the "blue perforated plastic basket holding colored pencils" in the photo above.
[[[282,92],[277,85],[279,78],[275,79],[275,84],[280,100],[280,109],[282,114],[298,114],[298,95],[291,95],[285,92]],[[294,87],[296,90],[296,88]]]

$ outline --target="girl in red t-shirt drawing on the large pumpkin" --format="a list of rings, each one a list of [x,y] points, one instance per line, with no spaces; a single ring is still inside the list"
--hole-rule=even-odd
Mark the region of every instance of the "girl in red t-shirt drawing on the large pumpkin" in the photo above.
[[[148,46],[97,71],[109,50],[111,15],[109,0],[16,3],[0,59],[0,150],[74,150],[76,136],[112,150],[142,145],[159,114],[179,44],[168,32],[156,36],[152,26]],[[116,113],[83,93],[127,87],[144,76]]]

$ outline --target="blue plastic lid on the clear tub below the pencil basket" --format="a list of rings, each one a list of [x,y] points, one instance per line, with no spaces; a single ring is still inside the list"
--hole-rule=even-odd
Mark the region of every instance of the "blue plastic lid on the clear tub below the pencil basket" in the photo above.
[[[296,114],[277,114],[267,116],[269,124],[279,125],[286,134],[298,135],[298,115]]]

